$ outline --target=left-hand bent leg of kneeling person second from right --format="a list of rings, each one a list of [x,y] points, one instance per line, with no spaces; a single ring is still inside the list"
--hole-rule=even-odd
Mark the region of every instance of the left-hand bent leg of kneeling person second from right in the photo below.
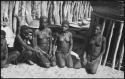
[[[61,52],[57,52],[57,63],[59,65],[59,67],[63,68],[65,67],[65,58],[64,58],[64,54],[62,54]]]

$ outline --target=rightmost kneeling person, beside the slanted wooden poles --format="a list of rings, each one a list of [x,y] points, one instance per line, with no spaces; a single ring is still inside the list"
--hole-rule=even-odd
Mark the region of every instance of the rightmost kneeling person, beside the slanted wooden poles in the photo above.
[[[101,35],[100,27],[100,25],[94,27],[83,55],[86,71],[90,74],[97,72],[101,57],[105,52],[106,38]]]

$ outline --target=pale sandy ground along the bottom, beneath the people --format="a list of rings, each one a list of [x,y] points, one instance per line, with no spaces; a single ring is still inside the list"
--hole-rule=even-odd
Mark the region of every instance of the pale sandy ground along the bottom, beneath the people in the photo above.
[[[113,70],[110,67],[100,66],[97,74],[87,74],[84,68],[42,68],[34,65],[10,64],[8,68],[1,69],[4,78],[124,78],[124,72]]]

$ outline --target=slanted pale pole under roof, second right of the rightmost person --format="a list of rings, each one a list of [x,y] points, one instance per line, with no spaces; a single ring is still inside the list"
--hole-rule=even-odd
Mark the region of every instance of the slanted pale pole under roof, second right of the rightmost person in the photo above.
[[[109,49],[110,49],[110,45],[111,45],[111,39],[112,39],[112,36],[113,36],[114,27],[115,27],[115,22],[113,21],[113,25],[111,27],[112,29],[111,29],[110,36],[109,36],[109,42],[108,42],[107,52],[106,52],[106,55],[105,55],[105,58],[104,58],[103,66],[105,66],[106,61],[107,61],[107,57],[108,57],[108,53],[109,53]]]

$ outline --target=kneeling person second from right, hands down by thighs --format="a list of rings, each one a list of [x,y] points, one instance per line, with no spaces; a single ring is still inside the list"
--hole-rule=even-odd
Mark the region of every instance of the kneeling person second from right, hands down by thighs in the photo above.
[[[62,23],[63,31],[57,35],[57,63],[59,67],[63,68],[65,66],[72,68],[73,60],[71,57],[71,50],[73,47],[72,33],[68,31],[69,23],[64,21]]]

